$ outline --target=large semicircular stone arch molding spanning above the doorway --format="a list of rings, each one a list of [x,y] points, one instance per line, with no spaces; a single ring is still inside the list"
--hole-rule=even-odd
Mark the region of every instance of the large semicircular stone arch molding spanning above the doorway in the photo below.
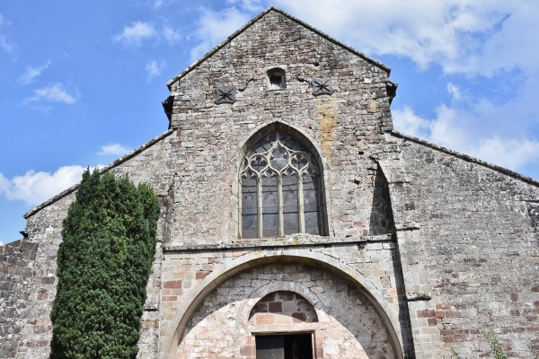
[[[370,282],[366,276],[363,276],[363,274],[358,272],[358,270],[340,262],[337,258],[320,252],[298,248],[257,250],[225,262],[218,268],[218,270],[208,274],[199,285],[191,288],[190,293],[185,295],[180,308],[172,318],[168,328],[165,329],[165,333],[162,337],[161,358],[172,359],[172,355],[176,352],[180,338],[191,315],[196,311],[199,304],[204,301],[208,294],[224,283],[225,280],[230,279],[250,267],[290,261],[325,267],[326,269],[333,271],[333,273],[343,276],[356,284],[358,290],[367,296],[367,299],[371,302],[381,320],[383,320],[390,338],[393,341],[393,346],[396,355],[398,355],[398,359],[403,358],[402,337],[400,335],[401,330],[399,329],[400,323],[398,320],[398,313],[393,312],[389,302],[384,298],[380,289]],[[301,285],[299,285],[298,288],[301,288]],[[259,290],[262,289],[259,288]],[[301,292],[306,293],[305,290],[302,290]],[[253,293],[256,293],[256,291]],[[300,294],[303,295],[303,293]],[[306,299],[310,300],[309,297],[310,294],[305,296]],[[314,298],[314,301],[319,302],[320,299],[316,301],[316,298]],[[314,302],[311,303],[314,304]],[[246,310],[247,309],[243,308],[243,311]],[[251,309],[249,309],[249,311],[251,311]],[[247,313],[247,316],[248,314],[249,313]]]

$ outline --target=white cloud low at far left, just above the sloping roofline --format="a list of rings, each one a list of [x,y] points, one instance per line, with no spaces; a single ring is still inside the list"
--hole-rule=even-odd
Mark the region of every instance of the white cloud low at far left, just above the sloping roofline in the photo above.
[[[64,166],[52,174],[27,171],[13,180],[0,173],[0,194],[9,200],[22,200],[30,206],[37,206],[78,183],[85,170],[82,166]]]

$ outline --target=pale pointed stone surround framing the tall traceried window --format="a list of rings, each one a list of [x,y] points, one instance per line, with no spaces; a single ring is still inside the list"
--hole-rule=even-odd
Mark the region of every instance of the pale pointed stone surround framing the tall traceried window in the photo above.
[[[331,203],[331,195],[330,195],[330,186],[329,183],[331,181],[330,179],[330,171],[328,167],[328,162],[325,157],[323,157],[323,149],[320,145],[316,143],[314,138],[310,136],[309,134],[305,133],[305,130],[293,126],[289,123],[286,123],[282,120],[275,119],[271,122],[266,122],[258,127],[253,128],[245,138],[243,138],[242,141],[239,142],[238,146],[236,147],[236,153],[237,156],[233,158],[231,162],[231,172],[230,172],[230,178],[231,181],[231,208],[232,208],[232,217],[231,217],[231,225],[230,228],[230,238],[235,240],[238,238],[239,228],[239,214],[238,214],[238,208],[239,208],[239,180],[238,180],[238,174],[240,169],[242,168],[242,162],[243,157],[245,156],[245,153],[249,150],[249,148],[252,146],[252,144],[255,144],[257,141],[259,141],[263,136],[266,136],[270,134],[270,132],[274,131],[280,131],[282,133],[285,133],[289,136],[295,137],[297,140],[299,140],[302,144],[305,144],[305,146],[311,151],[311,153],[314,154],[314,157],[316,158],[316,161],[320,164],[321,167],[321,179],[322,179],[322,197],[324,202],[324,221],[325,221],[325,228],[326,232],[329,234],[332,232],[332,224],[331,224],[331,206],[325,206],[327,203]]]

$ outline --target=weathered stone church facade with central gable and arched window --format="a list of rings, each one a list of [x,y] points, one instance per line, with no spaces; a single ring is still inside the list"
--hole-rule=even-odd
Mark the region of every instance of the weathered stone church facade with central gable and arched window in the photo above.
[[[539,182],[395,131],[389,74],[270,7],[167,83],[106,169],[162,206],[138,357],[531,357]],[[49,356],[75,191],[0,250],[0,358]]]

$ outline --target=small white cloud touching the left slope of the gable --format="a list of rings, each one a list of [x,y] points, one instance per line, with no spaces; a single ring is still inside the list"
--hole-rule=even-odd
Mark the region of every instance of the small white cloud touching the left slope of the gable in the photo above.
[[[198,46],[190,52],[191,62],[202,57],[208,50],[215,47],[234,31],[241,28],[251,18],[247,13],[241,13],[234,7],[212,12],[204,9],[199,21],[196,35],[200,40]]]

